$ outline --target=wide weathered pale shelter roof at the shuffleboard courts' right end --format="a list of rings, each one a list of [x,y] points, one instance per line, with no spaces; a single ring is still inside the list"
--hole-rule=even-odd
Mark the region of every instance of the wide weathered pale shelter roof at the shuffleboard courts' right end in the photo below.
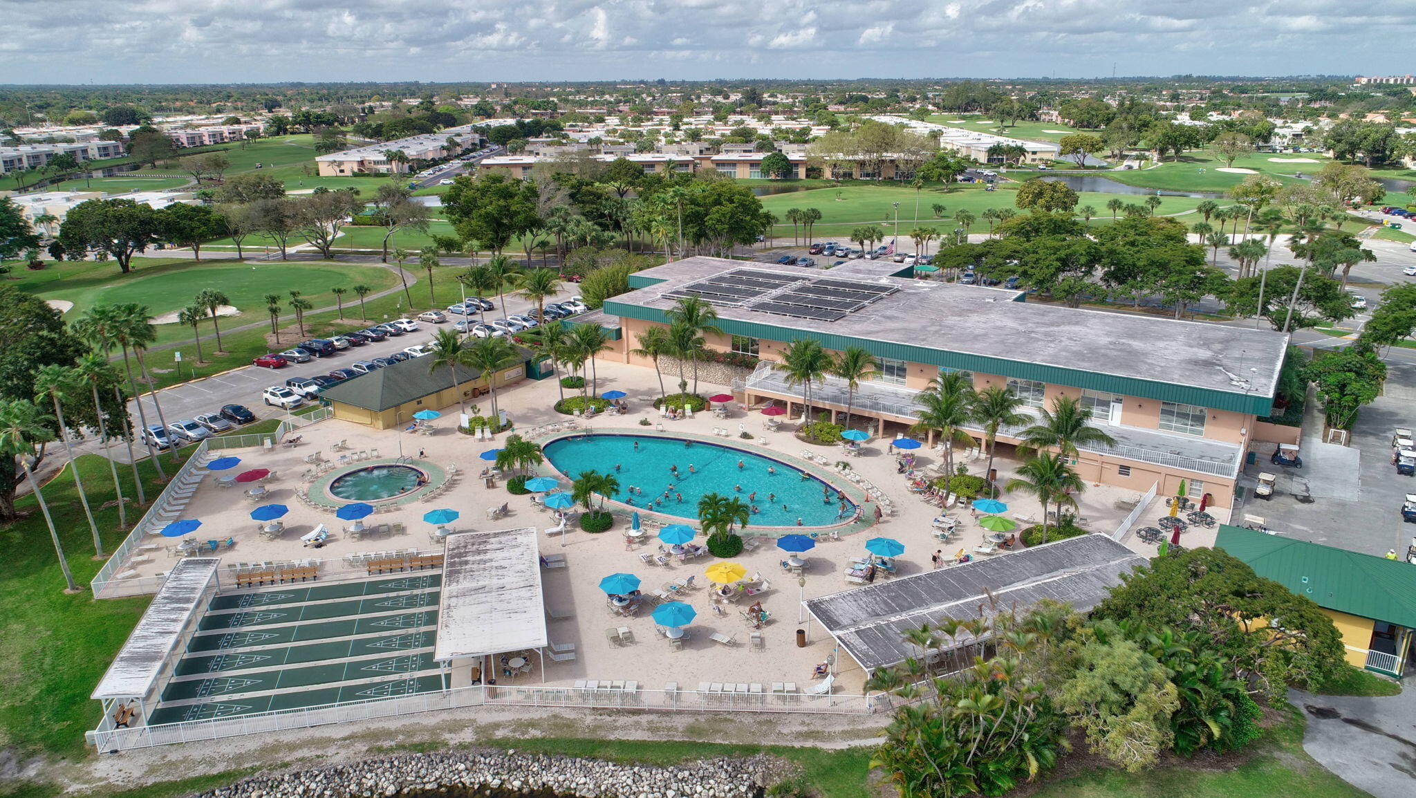
[[[447,536],[433,659],[544,648],[545,598],[537,529]]]

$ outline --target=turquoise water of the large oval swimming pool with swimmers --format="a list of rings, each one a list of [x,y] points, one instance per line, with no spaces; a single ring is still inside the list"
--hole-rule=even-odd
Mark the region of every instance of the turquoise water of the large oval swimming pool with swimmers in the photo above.
[[[684,438],[595,434],[551,441],[544,454],[572,479],[582,471],[613,473],[620,488],[612,499],[636,507],[653,503],[658,513],[697,519],[698,499],[719,493],[758,507],[750,526],[796,526],[797,519],[801,526],[830,526],[841,520],[834,485],[811,475],[803,479],[796,468],[745,449]],[[677,476],[670,466],[678,466]],[[630,486],[637,490],[630,493]],[[854,513],[855,505],[845,499],[845,517]]]

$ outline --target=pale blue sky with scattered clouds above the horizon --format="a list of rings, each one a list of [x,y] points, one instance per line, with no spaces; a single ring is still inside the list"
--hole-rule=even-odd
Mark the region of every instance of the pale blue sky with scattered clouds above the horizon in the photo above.
[[[1412,72],[1409,3],[0,0],[0,84]]]

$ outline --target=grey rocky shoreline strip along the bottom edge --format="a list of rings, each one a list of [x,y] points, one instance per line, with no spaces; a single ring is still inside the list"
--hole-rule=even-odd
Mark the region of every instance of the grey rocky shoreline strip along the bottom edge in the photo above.
[[[500,750],[447,751],[253,777],[200,798],[756,798],[787,777],[789,768],[766,755],[641,765]]]

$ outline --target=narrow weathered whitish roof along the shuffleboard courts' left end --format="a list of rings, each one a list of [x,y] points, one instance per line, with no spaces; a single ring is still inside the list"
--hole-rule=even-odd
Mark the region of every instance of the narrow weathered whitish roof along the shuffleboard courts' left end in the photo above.
[[[133,634],[108,666],[91,697],[140,699],[153,689],[167,656],[181,642],[187,624],[217,575],[219,557],[187,557],[167,571],[167,581],[147,605]]]

